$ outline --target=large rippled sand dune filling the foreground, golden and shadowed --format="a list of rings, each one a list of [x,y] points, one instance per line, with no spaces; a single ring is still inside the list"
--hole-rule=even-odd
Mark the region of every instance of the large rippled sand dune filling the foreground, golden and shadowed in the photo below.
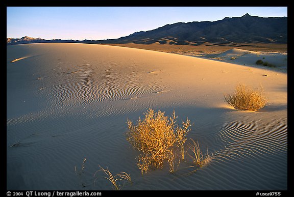
[[[133,184],[122,190],[286,190],[287,71],[234,64],[241,57],[7,46],[7,190],[111,190],[103,172],[94,177],[99,165],[130,174]],[[268,104],[256,112],[229,107],[224,93],[238,82],[262,85]],[[197,172],[164,167],[141,175],[125,132],[127,120],[136,122],[149,107],[193,123],[187,138],[209,155]],[[79,177],[75,166],[84,158]]]

